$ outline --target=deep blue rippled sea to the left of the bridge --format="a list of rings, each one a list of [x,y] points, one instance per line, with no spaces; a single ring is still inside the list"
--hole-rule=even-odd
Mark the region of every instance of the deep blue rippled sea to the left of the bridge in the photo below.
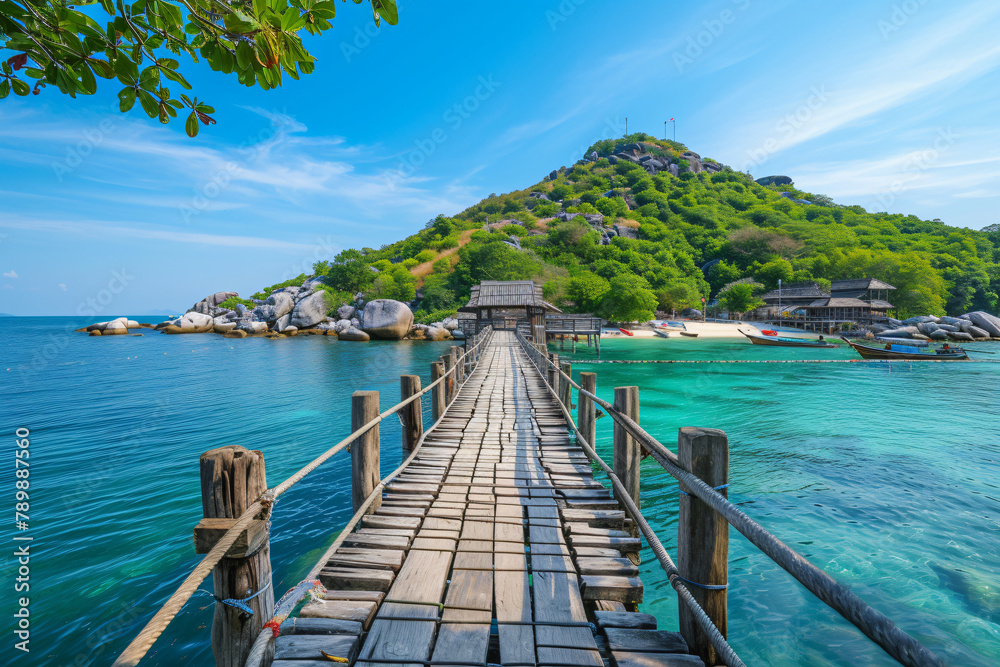
[[[399,401],[399,375],[426,385],[430,362],[448,347],[73,333],[92,321],[0,318],[9,462],[0,495],[11,513],[14,431],[31,430],[32,641],[12,664],[107,665],[131,641],[200,560],[191,531],[201,518],[202,452],[259,449],[273,486],[350,432],[353,391],[377,389],[389,407]],[[381,429],[386,474],[399,465],[400,429],[392,420]],[[351,514],[346,454],[282,496],[271,537],[277,595],[301,580]],[[3,531],[14,544],[13,517]],[[4,549],[2,574],[7,618],[16,604],[12,551]],[[210,602],[192,598],[143,664],[212,664]],[[4,627],[11,632],[13,622]]]

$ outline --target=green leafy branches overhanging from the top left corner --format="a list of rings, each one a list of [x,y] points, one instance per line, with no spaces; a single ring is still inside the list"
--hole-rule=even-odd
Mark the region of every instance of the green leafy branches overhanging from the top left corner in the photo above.
[[[396,0],[369,2],[376,25],[396,24]],[[116,79],[121,111],[138,100],[150,118],[167,123],[181,110],[193,137],[199,124],[215,123],[215,110],[167,87],[191,88],[175,56],[203,59],[246,86],[276,88],[285,74],[298,79],[313,71],[300,33],[329,30],[336,7],[335,0],[3,0],[0,50],[15,55],[0,65],[0,98],[48,86],[70,97],[93,95],[98,78]]]

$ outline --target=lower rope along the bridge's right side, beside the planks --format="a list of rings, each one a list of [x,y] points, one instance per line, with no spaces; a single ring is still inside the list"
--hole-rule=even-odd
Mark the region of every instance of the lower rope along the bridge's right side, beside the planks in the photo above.
[[[530,343],[528,343],[527,340],[525,340],[522,336],[518,335],[518,340],[521,342],[522,348],[525,349],[525,351],[530,350],[534,351],[535,353],[541,354],[536,348],[531,346]],[[726,638],[722,636],[722,633],[712,622],[712,619],[708,617],[708,614],[705,613],[705,610],[701,608],[701,605],[698,604],[698,601],[694,599],[693,595],[691,595],[691,591],[689,591],[687,587],[684,585],[683,579],[680,576],[680,571],[674,564],[673,559],[670,558],[670,554],[667,553],[667,550],[664,548],[663,543],[660,542],[660,538],[650,527],[649,523],[646,521],[646,518],[642,515],[641,510],[638,508],[638,506],[636,506],[635,501],[632,500],[632,496],[625,489],[625,485],[622,484],[621,479],[618,477],[618,475],[615,474],[614,469],[612,469],[611,466],[609,466],[604,461],[604,459],[600,457],[600,455],[597,453],[597,450],[594,449],[591,443],[587,442],[583,433],[581,433],[580,429],[577,428],[576,422],[573,420],[573,416],[569,412],[569,408],[562,404],[562,401],[559,400],[558,392],[556,392],[555,388],[549,384],[546,373],[543,372],[542,369],[538,367],[538,363],[536,362],[535,359],[537,358],[538,354],[533,355],[531,352],[528,352],[527,355],[528,361],[530,361],[532,366],[534,366],[535,370],[538,371],[538,374],[542,378],[542,382],[545,383],[546,389],[548,389],[549,393],[552,394],[552,397],[556,399],[556,404],[562,410],[563,415],[566,417],[566,421],[573,428],[574,433],[576,433],[577,443],[580,445],[583,451],[587,453],[587,456],[589,456],[592,461],[597,463],[597,465],[599,465],[601,469],[604,470],[604,472],[608,475],[608,478],[611,480],[611,485],[615,490],[615,497],[618,498],[618,501],[625,507],[625,511],[628,512],[628,515],[632,518],[636,526],[638,526],[639,530],[642,532],[643,537],[646,538],[646,542],[649,544],[650,549],[652,549],[653,555],[656,556],[656,560],[659,561],[660,567],[663,568],[664,573],[666,573],[667,578],[670,581],[670,585],[674,588],[675,591],[677,591],[678,598],[684,602],[685,606],[687,606],[688,609],[691,610],[691,613],[694,615],[694,619],[695,622],[698,624],[698,627],[701,629],[702,632],[705,633],[705,636],[708,637],[709,641],[712,644],[712,648],[715,649],[719,658],[721,658],[725,662],[726,666],[746,667],[746,665],[740,659],[740,657],[736,655],[736,652],[733,650],[733,647],[729,645],[729,643],[726,641]],[[535,358],[532,358],[533,356]],[[579,387],[577,388],[579,389]]]

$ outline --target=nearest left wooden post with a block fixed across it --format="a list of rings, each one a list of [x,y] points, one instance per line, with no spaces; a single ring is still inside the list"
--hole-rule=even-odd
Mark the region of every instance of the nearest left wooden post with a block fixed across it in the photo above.
[[[238,445],[207,451],[201,455],[200,463],[205,519],[195,528],[195,550],[208,553],[247,507],[267,490],[267,482],[264,455]],[[264,590],[245,602],[253,609],[253,615],[221,602],[215,605],[212,653],[219,667],[243,667],[254,640],[274,613],[266,515],[259,516],[244,535],[212,570],[215,595],[222,600],[246,600]]]

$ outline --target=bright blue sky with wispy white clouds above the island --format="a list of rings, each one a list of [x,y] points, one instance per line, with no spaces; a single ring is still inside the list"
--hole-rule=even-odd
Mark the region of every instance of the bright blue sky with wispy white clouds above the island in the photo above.
[[[218,125],[114,84],[0,101],[0,312],[114,317],[246,296],[341,248],[526,187],[629,131],[869,210],[1000,222],[1000,5],[338,3],[314,74],[186,66]],[[2,54],[0,54],[2,55]]]

